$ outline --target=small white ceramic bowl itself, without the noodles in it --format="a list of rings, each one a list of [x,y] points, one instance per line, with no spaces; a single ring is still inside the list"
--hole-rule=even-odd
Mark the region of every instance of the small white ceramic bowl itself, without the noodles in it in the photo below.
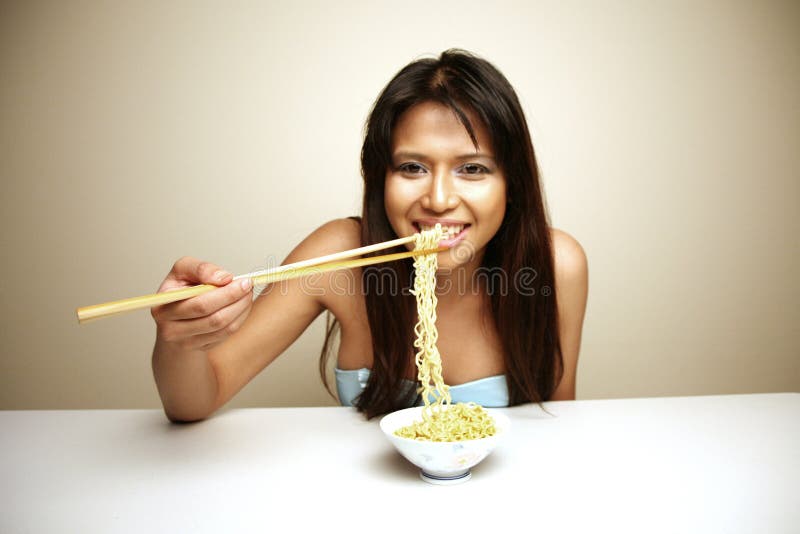
[[[508,434],[511,421],[505,414],[486,408],[494,418],[494,436],[466,441],[418,441],[401,438],[394,431],[422,420],[422,407],[406,408],[383,416],[381,430],[409,462],[420,468],[420,477],[432,484],[466,482],[470,469],[486,458]]]

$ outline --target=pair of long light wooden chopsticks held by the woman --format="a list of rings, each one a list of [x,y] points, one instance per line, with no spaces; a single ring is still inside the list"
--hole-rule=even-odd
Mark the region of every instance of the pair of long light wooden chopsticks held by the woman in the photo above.
[[[299,278],[301,276],[308,276],[315,273],[352,269],[355,267],[363,267],[365,265],[374,265],[376,263],[396,261],[403,258],[412,258],[422,254],[433,254],[448,250],[448,247],[438,247],[428,250],[411,250],[406,252],[397,252],[394,254],[385,254],[382,256],[373,256],[369,258],[345,260],[345,258],[360,256],[369,252],[375,252],[377,250],[383,250],[406,243],[411,243],[415,239],[416,237],[413,235],[409,237],[402,237],[400,239],[394,239],[383,243],[376,243],[374,245],[367,245],[365,247],[345,250],[343,252],[336,252],[334,254],[320,256],[318,258],[298,261],[288,265],[281,265],[280,267],[276,267],[274,269],[265,269],[261,271],[254,271],[252,273],[240,274],[235,276],[233,279],[238,280],[242,278],[250,278],[254,286],[256,284],[270,284],[281,280],[291,280],[292,278]],[[188,298],[196,297],[197,295],[202,295],[203,293],[213,291],[218,287],[219,286],[212,284],[200,284],[196,286],[168,290],[162,293],[153,293],[151,295],[142,295],[139,297],[114,300],[101,304],[93,304],[91,306],[83,306],[81,308],[77,308],[75,312],[78,315],[78,322],[83,324],[95,319],[111,317],[113,315],[119,315],[129,311],[152,308],[154,306],[161,306],[162,304],[169,304],[170,302],[186,300]]]

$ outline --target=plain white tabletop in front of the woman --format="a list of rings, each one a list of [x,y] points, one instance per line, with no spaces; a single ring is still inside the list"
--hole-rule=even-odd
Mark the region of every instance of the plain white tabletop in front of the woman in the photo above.
[[[545,406],[447,487],[349,408],[0,412],[0,532],[800,532],[800,394]]]

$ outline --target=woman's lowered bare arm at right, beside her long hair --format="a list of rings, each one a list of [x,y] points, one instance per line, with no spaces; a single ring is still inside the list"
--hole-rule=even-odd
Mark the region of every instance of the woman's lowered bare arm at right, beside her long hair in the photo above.
[[[558,335],[564,374],[549,400],[574,400],[578,353],[589,290],[586,254],[574,237],[552,229],[558,296]]]

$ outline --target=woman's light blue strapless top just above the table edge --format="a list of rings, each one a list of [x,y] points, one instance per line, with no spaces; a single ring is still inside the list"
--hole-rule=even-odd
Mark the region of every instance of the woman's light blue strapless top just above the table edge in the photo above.
[[[335,368],[336,390],[339,392],[339,402],[342,406],[353,406],[353,401],[364,388],[367,387],[370,370]],[[406,380],[409,387],[414,382]],[[457,386],[450,386],[450,398],[456,402],[475,402],[487,408],[504,408],[508,406],[508,384],[506,375],[487,376],[471,382],[464,382]],[[433,399],[431,399],[433,400]],[[420,400],[420,405],[422,400]]]

